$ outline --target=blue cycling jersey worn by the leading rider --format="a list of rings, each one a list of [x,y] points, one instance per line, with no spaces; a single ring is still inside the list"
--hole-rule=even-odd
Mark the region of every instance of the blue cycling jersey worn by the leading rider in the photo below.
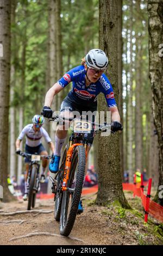
[[[96,83],[91,83],[89,87],[85,84],[86,71],[83,65],[76,66],[76,68],[68,71],[58,83],[61,87],[66,87],[68,83],[72,82],[72,90],[68,93],[68,97],[78,105],[92,106],[97,105],[97,95],[103,93],[105,95],[108,107],[115,107],[116,101],[112,86],[105,76],[102,74]]]

